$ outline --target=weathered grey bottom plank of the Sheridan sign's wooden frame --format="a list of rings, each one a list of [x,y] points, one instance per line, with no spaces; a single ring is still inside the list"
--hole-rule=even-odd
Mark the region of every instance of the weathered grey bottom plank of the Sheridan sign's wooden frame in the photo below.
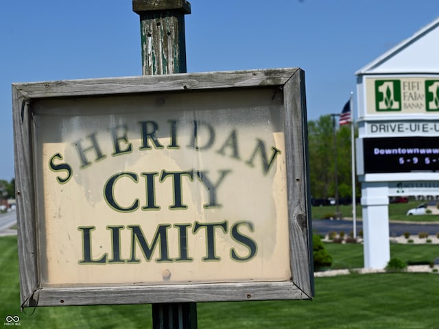
[[[93,297],[92,297],[93,296]],[[152,304],[244,300],[307,300],[292,282],[171,284],[130,287],[44,287],[38,300],[45,306],[91,304]]]

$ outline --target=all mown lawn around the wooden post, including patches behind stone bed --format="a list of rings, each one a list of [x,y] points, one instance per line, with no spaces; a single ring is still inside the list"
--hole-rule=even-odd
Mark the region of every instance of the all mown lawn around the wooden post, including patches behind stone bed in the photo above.
[[[337,267],[362,266],[361,245],[325,247]],[[3,321],[19,315],[21,328],[152,327],[150,305],[40,307],[21,313],[16,236],[0,238],[0,250]],[[403,260],[430,259],[437,252],[434,245],[391,245],[392,256]],[[315,287],[313,301],[198,303],[198,328],[439,328],[439,274],[351,274],[316,278]]]

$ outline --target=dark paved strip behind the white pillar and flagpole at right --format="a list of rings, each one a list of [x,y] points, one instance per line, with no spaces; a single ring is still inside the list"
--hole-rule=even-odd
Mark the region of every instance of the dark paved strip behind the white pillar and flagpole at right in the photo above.
[[[436,235],[439,233],[439,223],[429,224],[415,224],[415,223],[395,223],[389,224],[390,236],[401,236],[404,232],[410,232],[410,234],[418,234],[419,232],[428,232],[428,234]],[[330,220],[330,219],[313,219],[312,221],[313,232],[318,234],[327,234],[328,232],[344,231],[349,234],[353,230],[353,221],[349,220]],[[357,232],[363,229],[363,223],[357,221]]]

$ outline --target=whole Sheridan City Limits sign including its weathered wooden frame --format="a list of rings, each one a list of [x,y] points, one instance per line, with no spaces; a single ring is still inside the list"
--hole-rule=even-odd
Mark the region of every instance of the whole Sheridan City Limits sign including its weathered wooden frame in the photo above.
[[[15,84],[23,306],[312,297],[302,75]]]

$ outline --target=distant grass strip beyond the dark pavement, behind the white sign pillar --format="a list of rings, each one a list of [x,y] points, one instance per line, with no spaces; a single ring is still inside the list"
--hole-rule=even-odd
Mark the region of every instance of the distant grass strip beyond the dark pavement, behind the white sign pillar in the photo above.
[[[439,222],[439,215],[418,215],[418,216],[407,216],[407,210],[411,208],[416,208],[422,202],[411,200],[407,204],[389,204],[389,220],[390,221],[431,221]],[[355,207],[355,214],[358,218],[362,217],[361,206],[357,205]],[[311,207],[311,217],[313,219],[324,219],[329,217],[334,217],[336,211],[335,206],[314,206]],[[343,218],[353,217],[352,205],[339,206],[339,211]]]

